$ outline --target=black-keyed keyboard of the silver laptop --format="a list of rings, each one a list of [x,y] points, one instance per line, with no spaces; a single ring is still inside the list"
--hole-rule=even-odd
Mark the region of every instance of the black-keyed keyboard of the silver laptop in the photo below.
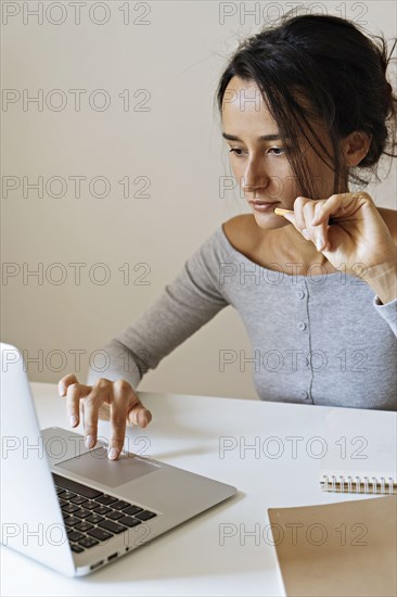
[[[76,554],[118,535],[154,512],[52,473],[71,548]]]

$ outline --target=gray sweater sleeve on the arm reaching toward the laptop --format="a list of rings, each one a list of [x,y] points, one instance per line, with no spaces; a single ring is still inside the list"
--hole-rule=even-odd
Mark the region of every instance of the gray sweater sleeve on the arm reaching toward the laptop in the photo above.
[[[106,371],[88,371],[87,383],[102,377],[125,379],[133,389],[149,369],[229,305],[219,283],[219,230],[184,263],[154,303],[104,347]]]

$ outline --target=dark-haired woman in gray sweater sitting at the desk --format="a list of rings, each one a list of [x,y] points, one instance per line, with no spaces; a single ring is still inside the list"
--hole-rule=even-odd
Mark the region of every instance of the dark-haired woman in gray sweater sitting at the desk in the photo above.
[[[348,187],[394,156],[387,64],[383,39],[333,16],[286,15],[241,43],[217,102],[252,214],[218,228],[104,347],[105,376],[60,381],[72,427],[84,398],[89,447],[101,415],[118,458],[126,423],[152,418],[135,392],[144,372],[227,305],[248,332],[260,398],[396,409],[396,212]]]

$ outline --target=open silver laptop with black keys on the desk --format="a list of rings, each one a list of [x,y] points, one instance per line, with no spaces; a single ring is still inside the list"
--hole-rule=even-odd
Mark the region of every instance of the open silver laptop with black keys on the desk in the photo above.
[[[1,344],[1,543],[82,576],[236,488],[61,428],[40,431],[21,352]]]

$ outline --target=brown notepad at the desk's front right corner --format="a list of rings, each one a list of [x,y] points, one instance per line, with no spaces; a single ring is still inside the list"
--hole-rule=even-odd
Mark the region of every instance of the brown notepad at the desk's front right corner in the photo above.
[[[397,496],[268,510],[290,597],[395,597]]]

